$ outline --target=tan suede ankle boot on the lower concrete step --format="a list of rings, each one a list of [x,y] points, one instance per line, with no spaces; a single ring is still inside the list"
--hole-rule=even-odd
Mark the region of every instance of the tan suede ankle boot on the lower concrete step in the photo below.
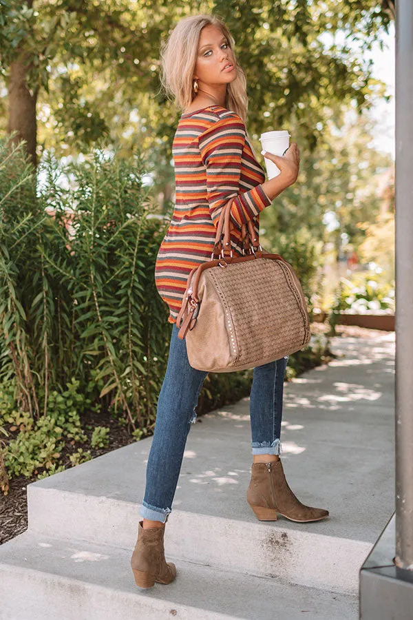
[[[139,521],[138,540],[131,557],[136,586],[152,588],[155,581],[171,583],[175,579],[175,564],[165,560],[164,535],[165,524],[144,530],[143,521]]]

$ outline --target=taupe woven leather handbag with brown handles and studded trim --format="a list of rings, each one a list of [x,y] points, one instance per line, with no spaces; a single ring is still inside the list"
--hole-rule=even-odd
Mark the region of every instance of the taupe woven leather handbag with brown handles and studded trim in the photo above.
[[[242,226],[244,256],[233,256],[231,204],[221,211],[211,260],[189,273],[176,320],[189,364],[214,373],[279,360],[303,349],[311,335],[297,274],[279,254],[262,251],[252,221],[248,231]]]

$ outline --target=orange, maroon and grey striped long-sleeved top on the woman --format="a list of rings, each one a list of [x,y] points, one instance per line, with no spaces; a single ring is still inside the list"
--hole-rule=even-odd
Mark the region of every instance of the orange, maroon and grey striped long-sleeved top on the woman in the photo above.
[[[241,225],[271,205],[265,174],[248,143],[244,121],[220,105],[182,114],[172,143],[176,204],[156,257],[155,282],[175,323],[193,267],[211,260],[222,207],[231,205],[231,247],[242,256]]]

